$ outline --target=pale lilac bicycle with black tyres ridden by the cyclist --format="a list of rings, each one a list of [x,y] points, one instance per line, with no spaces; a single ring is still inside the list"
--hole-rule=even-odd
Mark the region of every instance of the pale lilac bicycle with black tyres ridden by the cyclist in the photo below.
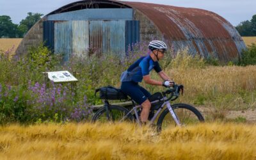
[[[179,97],[180,91],[183,92],[183,86],[174,84],[172,88],[168,88],[165,92],[156,92],[148,98],[151,102],[150,115],[148,116],[149,124],[153,124],[160,114],[157,119],[157,131],[161,131],[170,125],[182,126],[204,122],[204,117],[195,107],[182,103],[170,104],[170,101]],[[132,109],[129,110],[122,106],[111,105],[105,99],[104,106],[95,113],[92,122],[134,122],[136,120],[141,125],[139,118],[141,108],[142,106],[136,106],[133,100]]]

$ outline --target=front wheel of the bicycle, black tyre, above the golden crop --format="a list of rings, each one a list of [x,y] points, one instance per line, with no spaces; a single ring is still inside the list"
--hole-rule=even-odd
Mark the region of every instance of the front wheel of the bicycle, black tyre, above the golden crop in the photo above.
[[[172,109],[181,125],[195,125],[204,122],[204,117],[200,111],[189,104],[173,104]],[[157,131],[161,131],[168,127],[175,127],[176,125],[177,124],[173,120],[169,109],[164,109],[157,120]]]

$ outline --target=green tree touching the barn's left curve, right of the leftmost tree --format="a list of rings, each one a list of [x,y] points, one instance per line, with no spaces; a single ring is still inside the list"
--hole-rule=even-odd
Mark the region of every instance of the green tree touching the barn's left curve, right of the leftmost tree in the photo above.
[[[34,24],[41,19],[41,16],[43,14],[41,13],[31,13],[29,12],[26,19],[22,19],[20,21],[19,25],[19,31],[22,33],[22,36],[24,36],[29,29],[34,26]]]

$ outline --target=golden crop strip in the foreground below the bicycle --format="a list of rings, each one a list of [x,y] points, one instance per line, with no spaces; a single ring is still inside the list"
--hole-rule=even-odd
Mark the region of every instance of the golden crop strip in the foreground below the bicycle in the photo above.
[[[135,124],[0,127],[1,159],[256,159],[256,126],[199,124],[157,134]]]

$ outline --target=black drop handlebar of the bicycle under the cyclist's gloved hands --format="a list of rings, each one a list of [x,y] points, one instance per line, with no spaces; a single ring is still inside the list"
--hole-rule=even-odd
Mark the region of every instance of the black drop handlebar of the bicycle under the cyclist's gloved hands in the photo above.
[[[182,84],[179,85],[179,84],[175,84],[173,82],[173,87],[168,88],[168,90],[166,90],[165,92],[162,92],[162,93],[165,97],[167,97],[166,95],[171,94],[171,96],[166,100],[171,100],[172,101],[172,100],[175,100],[179,97],[180,90],[181,90],[181,93],[183,93],[183,89],[184,89],[184,86]]]

